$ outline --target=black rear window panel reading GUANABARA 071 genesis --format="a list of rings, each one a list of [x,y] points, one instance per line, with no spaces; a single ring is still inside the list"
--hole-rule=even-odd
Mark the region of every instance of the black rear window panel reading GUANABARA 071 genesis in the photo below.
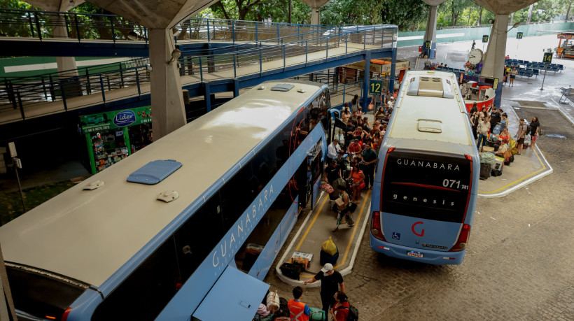
[[[385,162],[381,211],[462,222],[471,174],[464,155],[393,150]]]

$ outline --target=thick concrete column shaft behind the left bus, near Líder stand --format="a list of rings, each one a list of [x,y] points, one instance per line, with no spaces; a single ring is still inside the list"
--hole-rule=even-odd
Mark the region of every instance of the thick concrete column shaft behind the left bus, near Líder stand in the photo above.
[[[151,110],[153,141],[186,124],[178,62],[172,59],[176,48],[171,29],[148,29],[150,43]]]

